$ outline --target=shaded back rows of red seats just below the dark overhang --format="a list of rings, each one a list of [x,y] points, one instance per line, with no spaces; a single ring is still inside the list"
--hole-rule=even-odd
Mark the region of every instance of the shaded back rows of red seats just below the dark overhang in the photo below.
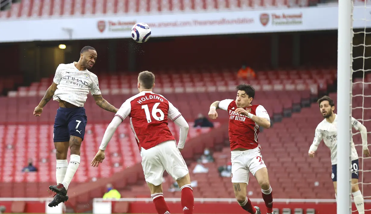
[[[235,95],[231,92],[234,92],[236,85],[243,82],[237,79],[232,69],[200,73],[197,71],[190,70],[183,74],[156,72],[159,74],[156,76],[154,92],[164,95],[178,106],[188,121],[196,118],[198,113],[202,112],[201,109],[208,109],[210,102],[234,98]],[[309,101],[318,91],[327,90],[327,86],[332,85],[335,78],[334,69],[271,70],[258,72],[257,79],[248,82],[255,86],[256,102],[266,106],[267,111],[274,116],[282,114],[285,109],[292,109],[293,104],[300,104],[302,100]],[[0,116],[0,121],[4,121],[3,124],[50,124],[55,117],[58,103],[50,102],[44,108],[42,117],[34,117],[23,109],[25,106],[29,109],[35,108],[52,81],[52,78],[43,78],[40,82],[9,92],[8,97],[0,98],[7,103],[0,106],[1,111],[7,112]],[[125,99],[138,92],[137,74],[100,75],[99,86],[106,100],[115,106],[121,106]],[[292,93],[294,91],[295,93]],[[101,111],[91,97],[85,106],[89,122],[111,120],[112,114]],[[226,118],[227,116],[221,116],[221,119]]]

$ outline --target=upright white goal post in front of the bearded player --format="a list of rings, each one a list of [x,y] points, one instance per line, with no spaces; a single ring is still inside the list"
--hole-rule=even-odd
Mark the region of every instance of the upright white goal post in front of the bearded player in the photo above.
[[[352,10],[351,0],[339,0],[338,9],[338,136],[337,214],[351,210]]]

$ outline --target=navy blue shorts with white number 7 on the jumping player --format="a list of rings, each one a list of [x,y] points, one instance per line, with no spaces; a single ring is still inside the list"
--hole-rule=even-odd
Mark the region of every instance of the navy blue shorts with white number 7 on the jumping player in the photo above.
[[[59,108],[55,115],[54,142],[68,142],[70,135],[84,139],[87,122],[84,107]]]

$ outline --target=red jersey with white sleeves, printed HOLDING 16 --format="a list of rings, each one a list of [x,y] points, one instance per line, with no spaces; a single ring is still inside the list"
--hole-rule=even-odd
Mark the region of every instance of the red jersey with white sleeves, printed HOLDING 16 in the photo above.
[[[127,99],[115,116],[130,118],[130,126],[137,140],[139,151],[152,148],[162,142],[175,140],[168,125],[181,113],[162,95],[143,91]]]

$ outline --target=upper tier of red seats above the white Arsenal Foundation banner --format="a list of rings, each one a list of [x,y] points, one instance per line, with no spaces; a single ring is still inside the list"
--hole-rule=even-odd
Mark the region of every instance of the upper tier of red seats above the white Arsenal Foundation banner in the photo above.
[[[53,1],[53,0],[23,0],[19,4],[12,4],[8,11],[0,12],[0,19],[46,18],[92,16],[102,14],[124,13],[166,13],[213,11],[230,9],[247,9],[262,7],[308,6],[308,0],[297,0],[289,3],[288,0],[86,0],[86,1]],[[134,23],[133,23],[134,24]]]

